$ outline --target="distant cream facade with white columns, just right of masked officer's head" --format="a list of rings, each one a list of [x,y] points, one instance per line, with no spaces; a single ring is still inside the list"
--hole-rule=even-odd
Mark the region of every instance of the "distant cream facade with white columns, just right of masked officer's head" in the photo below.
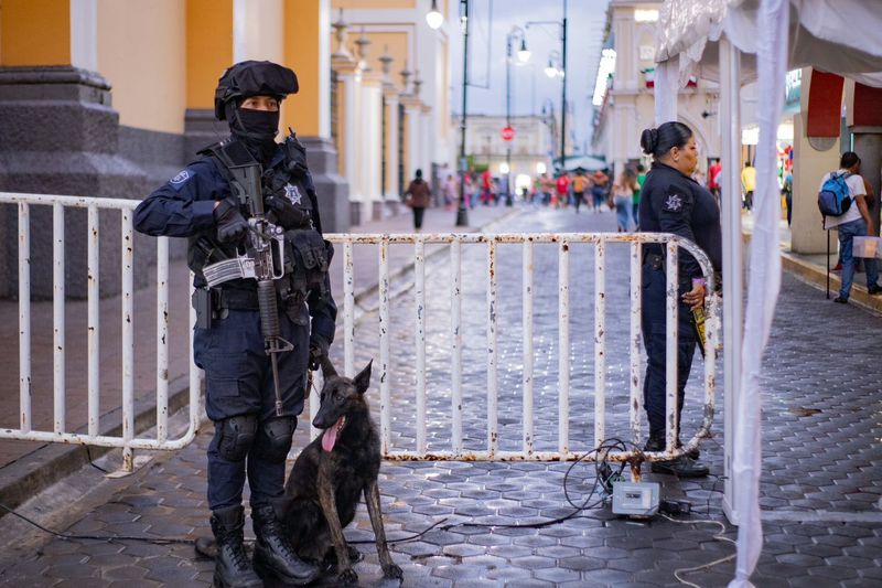
[[[438,2],[442,14],[449,4]],[[351,186],[351,220],[359,223],[395,214],[416,171],[437,178],[452,157],[451,23],[429,26],[431,0],[332,7],[332,136]]]

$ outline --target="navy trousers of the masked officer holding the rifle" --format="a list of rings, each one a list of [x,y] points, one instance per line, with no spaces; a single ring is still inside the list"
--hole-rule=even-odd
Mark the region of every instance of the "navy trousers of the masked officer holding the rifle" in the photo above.
[[[206,413],[215,421],[256,415],[260,423],[276,416],[276,389],[270,359],[263,351],[260,313],[256,310],[229,310],[225,319],[215,319],[211,329],[195,329],[193,351],[196,365],[205,370]],[[304,309],[305,312],[305,309]],[[280,314],[282,338],[293,343],[292,351],[280,353],[279,383],[284,414],[303,411],[309,331]],[[258,434],[260,425],[258,426]],[[230,461],[218,452],[218,437],[208,446],[208,507],[223,509],[241,504],[246,475],[251,490],[251,505],[280,496],[284,488],[284,461],[265,459],[256,445],[246,459]]]

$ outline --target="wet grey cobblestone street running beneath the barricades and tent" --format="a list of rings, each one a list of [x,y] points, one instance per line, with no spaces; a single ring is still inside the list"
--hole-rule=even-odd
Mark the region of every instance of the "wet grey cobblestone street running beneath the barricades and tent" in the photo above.
[[[493,232],[614,231],[611,212],[576,215],[572,210],[525,210]],[[407,246],[396,246],[407,247]],[[486,245],[463,246],[464,445],[486,448]],[[451,439],[451,276],[447,255],[427,271],[427,406],[430,450]],[[558,442],[558,254],[556,245],[535,248],[534,386],[536,450]],[[627,246],[606,254],[606,435],[627,439],[630,333]],[[521,448],[521,257],[520,247],[501,245],[497,259],[499,448]],[[409,278],[402,278],[409,279]],[[578,452],[593,446],[594,316],[593,250],[571,248],[570,259],[570,432]],[[342,297],[338,298],[342,300]],[[391,304],[392,449],[412,449],[416,439],[415,316],[412,292]],[[882,389],[876,348],[882,319],[852,306],[832,304],[822,292],[785,275],[767,348],[763,377],[763,479],[765,544],[756,586],[879,586],[882,584]],[[377,316],[356,324],[356,368],[375,360],[368,400],[379,405]],[[841,357],[848,351],[848,360]],[[342,366],[342,341],[332,355]],[[697,354],[687,388],[684,430],[695,432],[701,416],[703,365]],[[718,371],[718,382],[722,374]],[[391,462],[383,464],[380,491],[387,535],[410,537],[444,520],[416,541],[395,543],[392,557],[408,587],[725,586],[733,562],[686,570],[734,554],[714,538],[734,538],[721,511],[723,474],[721,394],[714,438],[701,447],[711,469],[707,479],[679,481],[650,474],[663,498],[684,499],[692,513],[671,522],[660,516],[631,521],[609,506],[587,510],[541,528],[524,525],[572,512],[564,495],[568,463]],[[378,414],[375,415],[379,420]],[[645,420],[645,419],[644,419]],[[294,448],[306,441],[301,420]],[[645,428],[645,425],[644,425]],[[160,538],[209,535],[205,503],[206,427],[196,441],[158,453],[135,474],[106,479],[84,468],[26,504],[55,530],[79,535],[143,535]],[[112,461],[115,456],[99,460]],[[109,466],[111,467],[111,466]],[[648,470],[648,468],[644,468]],[[571,500],[588,496],[593,466],[573,468]],[[73,500],[73,499],[77,500]],[[460,523],[487,526],[464,526]],[[247,526],[246,535],[250,527]],[[381,585],[373,532],[362,507],[347,538],[365,560],[356,565],[363,585]],[[61,539],[12,516],[0,518],[0,584],[4,586],[208,586],[213,563],[197,559],[189,544],[154,545],[128,539]]]

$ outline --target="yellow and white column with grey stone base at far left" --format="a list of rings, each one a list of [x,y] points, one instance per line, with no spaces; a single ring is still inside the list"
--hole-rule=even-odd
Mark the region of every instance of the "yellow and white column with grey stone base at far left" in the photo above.
[[[119,153],[119,115],[97,67],[97,8],[82,2],[29,2],[3,12],[0,36],[0,190],[40,194],[143,197],[144,170]],[[52,206],[30,206],[31,296],[53,293]],[[87,220],[66,209],[65,293],[87,296]],[[120,288],[119,213],[100,213],[100,291]],[[136,242],[143,267],[148,243]],[[18,210],[0,207],[0,298],[18,298]],[[154,250],[154,249],[153,249]],[[139,286],[144,271],[136,272]]]

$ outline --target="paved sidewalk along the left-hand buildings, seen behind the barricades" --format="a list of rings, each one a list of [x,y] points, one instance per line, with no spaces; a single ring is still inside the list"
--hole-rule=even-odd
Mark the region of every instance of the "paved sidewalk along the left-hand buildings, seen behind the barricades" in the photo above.
[[[467,227],[455,227],[455,211],[429,209],[423,221],[424,232],[472,232],[504,220],[516,210],[505,206],[480,206],[469,213]],[[353,233],[407,233],[412,231],[409,210],[383,221],[353,227]],[[502,225],[504,226],[504,225]],[[427,255],[443,246],[427,247]],[[391,248],[389,270],[404,271],[412,264],[412,253],[406,247]],[[342,307],[343,252],[337,248],[332,265],[332,288]],[[355,247],[356,300],[369,295],[377,286],[376,253],[368,247]],[[155,269],[151,268],[151,272]],[[170,394],[173,409],[186,403],[190,370],[190,274],[185,260],[170,267]],[[144,421],[154,423],[155,414],[155,287],[135,293],[135,396]],[[68,301],[66,323],[66,430],[85,430],[87,423],[87,302]],[[52,301],[33,302],[32,330],[32,428],[53,430],[53,307]],[[101,431],[121,423],[121,312],[120,298],[100,302],[100,413]],[[19,428],[19,307],[15,301],[0,301],[0,427]],[[175,393],[176,396],[175,396]],[[118,432],[115,435],[119,435]],[[93,448],[90,456],[104,450]],[[79,446],[0,440],[0,503],[15,506],[23,500],[69,474],[88,461],[89,455]],[[0,517],[3,516],[0,511]]]

